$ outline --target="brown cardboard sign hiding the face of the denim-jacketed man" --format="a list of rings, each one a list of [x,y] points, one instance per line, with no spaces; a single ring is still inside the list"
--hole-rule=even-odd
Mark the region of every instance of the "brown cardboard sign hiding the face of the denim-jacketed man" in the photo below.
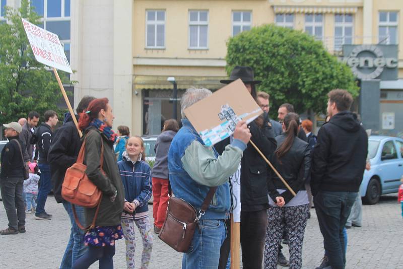
[[[206,146],[213,146],[231,136],[238,121],[249,123],[263,113],[240,79],[184,112]]]

